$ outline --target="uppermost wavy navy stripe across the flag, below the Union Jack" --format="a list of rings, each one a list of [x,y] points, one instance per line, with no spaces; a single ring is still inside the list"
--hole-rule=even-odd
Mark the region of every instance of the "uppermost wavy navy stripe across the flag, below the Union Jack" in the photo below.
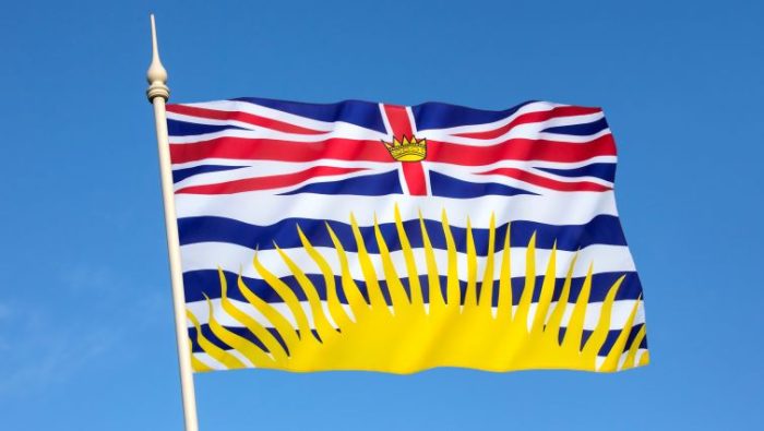
[[[349,209],[348,209],[349,211]],[[274,242],[280,248],[291,249],[302,247],[297,236],[297,226],[302,229],[314,247],[333,247],[326,223],[347,251],[358,251],[353,229],[349,224],[335,220],[313,218],[285,218],[267,226],[250,225],[225,217],[183,217],[178,219],[180,244],[198,242],[230,242],[249,249],[270,250]],[[516,220],[497,227],[496,250],[503,249],[503,240],[510,227],[510,243],[514,247],[525,247],[530,237],[536,234],[536,247],[551,249],[557,241],[558,250],[576,251],[592,244],[626,246],[621,224],[616,216],[598,215],[584,225],[546,225],[536,222]],[[418,219],[405,220],[403,227],[413,248],[422,248],[425,242]],[[440,220],[425,220],[430,242],[435,249],[445,250],[445,235]],[[359,227],[361,236],[370,253],[379,253],[373,226]],[[397,229],[394,223],[380,224],[382,237],[391,251],[401,250]],[[467,229],[451,227],[456,242],[456,250],[466,252]],[[478,255],[488,253],[489,229],[473,228],[475,249]]]

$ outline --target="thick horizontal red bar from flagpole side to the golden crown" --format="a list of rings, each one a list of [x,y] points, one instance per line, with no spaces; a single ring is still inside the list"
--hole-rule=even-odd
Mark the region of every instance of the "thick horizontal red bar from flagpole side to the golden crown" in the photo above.
[[[321,142],[291,142],[224,136],[193,144],[170,144],[170,159],[174,164],[195,161],[204,158],[280,161],[313,161],[327,158],[335,160],[395,161],[379,141],[357,141],[339,137]]]

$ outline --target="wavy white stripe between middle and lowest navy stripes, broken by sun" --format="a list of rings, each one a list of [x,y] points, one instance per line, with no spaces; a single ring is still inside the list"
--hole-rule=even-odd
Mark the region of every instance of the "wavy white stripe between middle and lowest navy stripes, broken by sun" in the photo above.
[[[252,307],[249,302],[243,302],[237,299],[229,299],[234,306],[243,311],[246,314],[258,321],[261,325],[264,327],[273,327],[273,324],[260,312],[258,311],[254,307]],[[634,308],[634,302],[636,300],[634,299],[622,299],[614,301],[612,304],[612,314],[610,316],[610,331],[614,330],[620,330],[622,328],[625,324],[626,321],[629,320],[629,315],[631,314],[632,309]],[[213,313],[215,313],[215,320],[222,324],[223,326],[228,326],[228,327],[243,327],[243,324],[236,319],[234,319],[230,314],[228,314],[224,309],[223,306],[220,304],[220,299],[215,298],[211,299],[210,302],[212,303],[213,308]],[[348,304],[342,304],[343,309],[345,312],[349,315],[353,316],[353,311],[350,310],[350,306]],[[195,302],[188,302],[186,307],[191,310],[191,312],[196,316],[196,320],[199,320],[200,324],[205,324],[210,322],[210,309],[207,306],[206,301],[195,301]],[[272,302],[271,307],[276,309],[280,315],[283,315],[294,328],[297,328],[297,321],[295,319],[295,315],[293,314],[291,310],[289,310],[289,307],[285,302]],[[425,304],[427,309],[427,304]],[[536,316],[536,309],[538,307],[538,303],[533,302],[528,309],[528,325],[530,325],[534,321],[534,318]],[[557,307],[557,301],[552,302],[551,306],[549,307],[549,311],[547,313],[547,320],[551,316],[552,312],[554,311],[554,308]],[[565,307],[565,313],[562,315],[562,321],[561,321],[561,326],[566,327],[568,323],[571,320],[571,316],[573,315],[573,308],[575,307],[574,303],[568,303]],[[310,324],[311,328],[315,328],[315,323],[313,322],[313,312],[310,309],[310,303],[308,301],[300,301],[300,308],[302,309],[302,312],[306,314],[306,318],[308,318],[308,322]],[[324,315],[329,320],[329,323],[332,324],[333,326],[337,326],[335,322],[332,320],[332,314],[329,311],[329,303],[326,301],[321,301],[321,308],[324,310]],[[599,314],[602,309],[602,302],[590,302],[586,307],[586,314],[584,318],[584,330],[585,331],[594,331],[597,327],[597,323],[599,320]],[[392,308],[391,308],[392,310]],[[512,306],[512,313],[515,313],[517,310],[517,306]],[[492,308],[493,315],[496,316],[497,313],[497,308]],[[634,316],[634,325],[638,325],[641,323],[645,322],[645,313],[644,313],[644,302],[640,304],[640,308],[637,309],[636,315]],[[189,327],[193,327],[193,324],[191,321],[188,321]]]

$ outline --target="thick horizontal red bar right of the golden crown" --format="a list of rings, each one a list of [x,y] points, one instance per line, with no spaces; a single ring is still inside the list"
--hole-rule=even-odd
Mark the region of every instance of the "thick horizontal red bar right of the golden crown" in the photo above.
[[[547,140],[509,140],[490,146],[473,146],[427,141],[427,159],[462,166],[490,165],[501,160],[544,160],[573,163],[597,156],[614,156],[612,135],[606,134],[585,144]]]

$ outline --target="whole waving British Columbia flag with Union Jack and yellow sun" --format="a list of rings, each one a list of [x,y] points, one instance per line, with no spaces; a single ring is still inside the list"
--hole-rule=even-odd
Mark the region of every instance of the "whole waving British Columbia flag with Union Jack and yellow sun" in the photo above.
[[[601,109],[167,111],[194,371],[648,362]]]

